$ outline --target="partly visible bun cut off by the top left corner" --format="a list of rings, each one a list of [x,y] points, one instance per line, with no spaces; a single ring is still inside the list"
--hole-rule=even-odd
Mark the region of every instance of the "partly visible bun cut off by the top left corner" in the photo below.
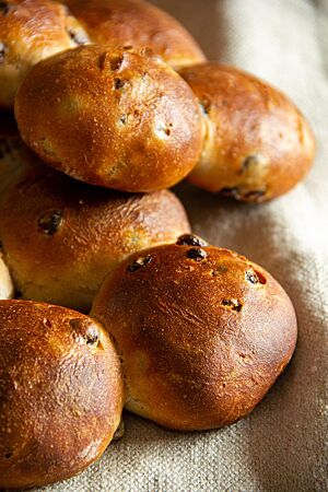
[[[87,42],[66,5],[51,0],[1,0],[0,107],[13,106],[20,83],[35,63]]]

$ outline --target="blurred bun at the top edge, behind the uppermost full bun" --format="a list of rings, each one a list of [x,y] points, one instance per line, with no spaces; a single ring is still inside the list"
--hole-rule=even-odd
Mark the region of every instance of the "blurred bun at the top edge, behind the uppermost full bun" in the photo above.
[[[142,0],[65,0],[98,45],[149,47],[174,68],[200,63],[191,35],[163,10]]]

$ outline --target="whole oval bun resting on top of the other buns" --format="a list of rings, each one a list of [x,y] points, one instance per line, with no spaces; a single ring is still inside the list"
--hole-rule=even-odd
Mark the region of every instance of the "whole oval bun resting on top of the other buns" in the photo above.
[[[22,83],[15,115],[43,161],[122,191],[171,187],[201,153],[192,91],[147,49],[84,46],[47,59]]]

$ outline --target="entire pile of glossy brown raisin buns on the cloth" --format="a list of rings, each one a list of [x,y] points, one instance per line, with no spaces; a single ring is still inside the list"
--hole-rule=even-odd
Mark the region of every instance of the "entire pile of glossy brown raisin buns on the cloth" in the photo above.
[[[180,431],[248,414],[293,305],[167,188],[291,189],[315,151],[293,103],[143,0],[3,0],[0,107],[0,489],[83,470],[124,408]]]

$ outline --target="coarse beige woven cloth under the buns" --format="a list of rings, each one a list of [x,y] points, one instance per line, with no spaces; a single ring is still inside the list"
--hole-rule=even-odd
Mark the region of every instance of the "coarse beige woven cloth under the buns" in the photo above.
[[[328,0],[157,0],[210,58],[289,94],[318,142],[295,190],[247,206],[177,188],[198,234],[267,268],[295,305],[292,364],[247,419],[206,433],[173,433],[126,414],[125,437],[81,476],[47,491],[328,490]],[[325,250],[326,246],[326,250]]]

